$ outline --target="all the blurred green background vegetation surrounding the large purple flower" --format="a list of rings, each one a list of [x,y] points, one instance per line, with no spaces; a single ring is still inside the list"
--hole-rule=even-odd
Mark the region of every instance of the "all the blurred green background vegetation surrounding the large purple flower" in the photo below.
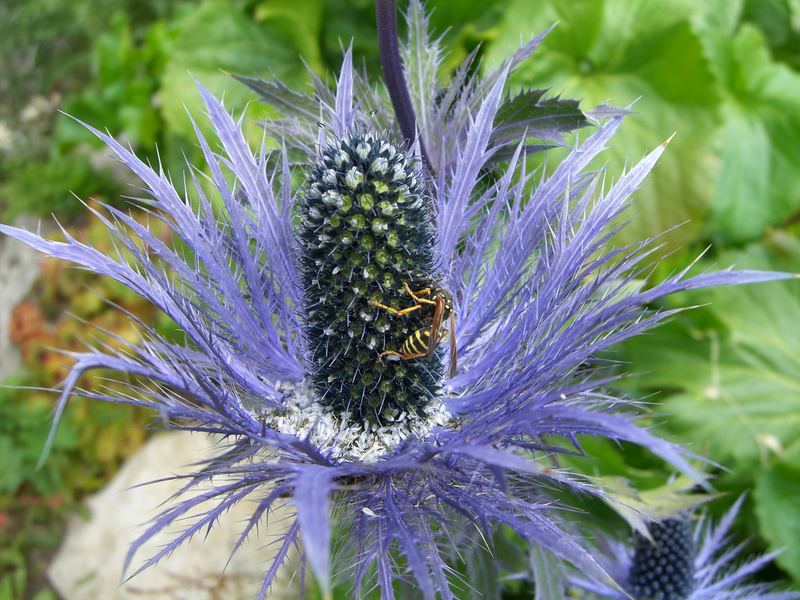
[[[178,178],[183,157],[192,161],[198,153],[186,115],[201,110],[193,79],[255,121],[267,109],[229,72],[302,87],[309,82],[304,62],[330,76],[352,38],[357,60],[377,80],[373,6],[372,0],[3,2],[0,220],[53,214],[102,246],[102,229],[89,224],[77,198],[118,201],[131,188],[75,119],[107,128],[150,160],[160,158]],[[520,40],[558,22],[513,84],[549,87],[587,108],[632,104],[636,114],[607,155],[612,174],[677,132],[623,233],[638,240],[671,229],[664,237],[668,258],[654,265],[652,277],[681,268],[709,246],[697,268],[800,272],[798,0],[429,0],[429,6],[450,51],[447,69],[473,50],[490,68]],[[254,122],[248,126],[258,134]],[[555,151],[543,160],[557,159]],[[30,298],[15,309],[13,334],[25,366],[6,383],[47,386],[63,378],[69,359],[49,348],[77,348],[88,331],[70,313],[135,335],[101,297],[150,322],[159,318],[118,286],[64,273],[62,265],[44,263]],[[768,576],[800,582],[800,284],[669,302],[702,308],[619,348],[611,358],[637,373],[622,387],[648,395],[661,433],[726,467],[715,473],[725,494],[712,510],[747,492],[740,533],[754,537],[755,549],[785,548],[778,559],[783,571]],[[168,331],[168,323],[161,326]],[[51,406],[43,393],[0,389],[0,599],[53,597],[43,572],[65,517],[81,510],[81,498],[142,442],[147,417],[76,402],[51,458],[36,471]],[[607,482],[669,485],[663,465],[633,448],[589,442],[587,451],[593,460],[574,466]],[[517,562],[515,548],[511,540],[510,564]],[[529,587],[516,582],[505,593],[522,598]]]

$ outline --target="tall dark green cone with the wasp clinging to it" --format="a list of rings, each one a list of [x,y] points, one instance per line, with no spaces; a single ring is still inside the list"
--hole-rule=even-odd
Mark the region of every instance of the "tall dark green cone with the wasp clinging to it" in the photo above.
[[[417,329],[432,307],[413,306],[403,284],[433,277],[433,217],[404,152],[377,135],[354,134],[322,152],[299,202],[305,339],[320,402],[353,420],[382,422],[421,414],[442,377],[441,359],[384,359]]]

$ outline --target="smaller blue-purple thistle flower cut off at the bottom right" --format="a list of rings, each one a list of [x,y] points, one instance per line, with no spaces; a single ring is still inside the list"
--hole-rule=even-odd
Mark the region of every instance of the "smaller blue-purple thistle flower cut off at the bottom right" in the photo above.
[[[700,518],[694,527],[686,516],[651,523],[647,539],[638,532],[630,547],[606,540],[601,562],[615,581],[612,587],[586,577],[573,585],[600,598],[634,600],[791,600],[796,592],[781,592],[768,583],[747,579],[779,553],[742,560],[743,544],[732,544],[730,528],[741,508],[740,497],[717,525]]]

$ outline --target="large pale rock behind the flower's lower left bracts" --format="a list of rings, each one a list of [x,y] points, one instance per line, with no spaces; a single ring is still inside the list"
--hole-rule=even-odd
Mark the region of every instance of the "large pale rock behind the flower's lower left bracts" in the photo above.
[[[50,565],[50,581],[65,600],[252,600],[261,579],[271,564],[275,545],[270,542],[289,525],[292,509],[272,513],[269,522],[260,523],[242,548],[226,565],[254,501],[236,505],[205,537],[200,532],[155,567],[120,584],[125,553],[130,543],[144,531],[144,525],[158,512],[158,506],[174,493],[182,481],[167,481],[132,486],[187,473],[186,467],[214,450],[212,439],[187,432],[158,435],[132,456],[114,479],[87,502],[91,517],[75,517],[58,555]],[[254,499],[255,500],[255,499]],[[163,508],[163,507],[162,507]],[[195,514],[198,511],[193,511]],[[172,532],[189,524],[182,521]],[[168,539],[169,533],[156,536],[140,549],[132,564],[135,570]],[[268,598],[288,600],[299,597],[295,576],[297,554],[281,571]]]

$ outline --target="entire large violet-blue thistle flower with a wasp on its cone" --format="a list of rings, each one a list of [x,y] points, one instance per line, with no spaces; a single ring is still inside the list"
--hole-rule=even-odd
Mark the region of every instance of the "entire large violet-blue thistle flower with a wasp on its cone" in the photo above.
[[[468,530],[491,539],[498,526],[604,580],[551,493],[602,490],[553,468],[553,455],[596,435],[694,471],[679,447],[635,424],[635,406],[608,396],[592,358],[672,314],[642,308],[666,294],[783,276],[684,271],[645,288],[656,246],[614,247],[613,223],[664,147],[606,189],[589,165],[624,114],[604,110],[551,174],[529,172],[528,154],[585,124],[576,103],[541,90],[504,95],[540,38],[486,78],[465,64],[442,86],[420,4],[409,9],[405,72],[393,3],[378,6],[391,104],[349,51],[335,89],[315,80],[313,96],[247,80],[284,113],[265,124],[281,149],[254,152],[200,88],[217,141],[196,128],[209,176],[192,172],[191,199],[161,165],[92,129],[141,179],[139,204],[180,247],[114,207],[96,217],[117,256],[67,232],[57,242],[0,226],[123,282],[186,335],[177,344],[139,324],[143,342],[77,355],[55,423],[77,394],[226,440],[133,543],[126,568],[154,534],[203,512],[137,573],[254,500],[240,542],[278,504],[295,507],[260,597],[294,546],[329,591],[334,529],[337,568],[356,594],[375,585],[393,598],[394,582],[412,577],[421,597],[453,598],[457,546]],[[135,377],[126,394],[81,390],[92,369]]]

